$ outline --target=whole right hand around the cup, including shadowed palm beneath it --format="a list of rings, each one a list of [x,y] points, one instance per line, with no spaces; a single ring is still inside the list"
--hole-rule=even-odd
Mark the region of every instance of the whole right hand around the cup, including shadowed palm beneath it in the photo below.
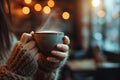
[[[64,36],[63,44],[57,45],[58,50],[51,51],[53,57],[40,54],[38,59],[39,69],[45,72],[51,72],[56,70],[57,68],[62,67],[68,58],[69,44],[69,38],[67,36]]]

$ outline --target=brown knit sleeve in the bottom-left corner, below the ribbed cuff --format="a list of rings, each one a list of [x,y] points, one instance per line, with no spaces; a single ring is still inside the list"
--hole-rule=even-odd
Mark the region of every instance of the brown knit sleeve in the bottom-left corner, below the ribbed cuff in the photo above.
[[[0,67],[0,80],[32,80],[32,77],[24,77],[7,70],[6,66]]]

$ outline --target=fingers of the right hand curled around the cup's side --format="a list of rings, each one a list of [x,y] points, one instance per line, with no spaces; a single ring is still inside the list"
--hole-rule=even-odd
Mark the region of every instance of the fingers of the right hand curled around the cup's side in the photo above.
[[[57,49],[59,51],[56,51],[56,50],[51,51],[51,54],[55,57],[47,57],[47,60],[49,62],[59,63],[60,61],[67,58],[68,57],[68,51],[69,51],[68,44],[70,44],[70,40],[67,36],[64,36],[63,44],[58,44],[57,45]]]

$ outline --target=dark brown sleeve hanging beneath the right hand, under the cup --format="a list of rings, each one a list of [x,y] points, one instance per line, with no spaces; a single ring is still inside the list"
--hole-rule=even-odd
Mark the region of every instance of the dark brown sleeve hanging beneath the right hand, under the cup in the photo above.
[[[58,80],[61,68],[67,61],[66,57],[60,63],[53,63],[46,60],[46,56],[40,54],[38,60],[38,70],[34,75],[34,80]]]

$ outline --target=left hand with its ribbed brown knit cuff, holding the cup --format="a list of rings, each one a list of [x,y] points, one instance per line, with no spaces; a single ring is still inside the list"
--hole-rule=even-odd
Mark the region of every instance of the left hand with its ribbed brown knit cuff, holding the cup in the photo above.
[[[38,68],[37,59],[38,49],[32,33],[23,33],[7,61],[7,67],[19,75],[31,76]]]

